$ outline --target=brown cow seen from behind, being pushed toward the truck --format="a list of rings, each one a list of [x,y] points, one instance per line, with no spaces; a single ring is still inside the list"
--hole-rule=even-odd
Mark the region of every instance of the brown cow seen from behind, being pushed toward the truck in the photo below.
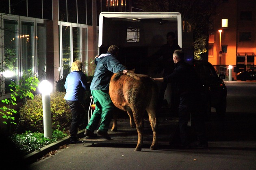
[[[156,83],[147,75],[135,74],[131,71],[127,74],[115,73],[111,77],[109,95],[117,108],[127,111],[131,127],[132,120],[134,120],[138,132],[138,143],[135,151],[141,151],[143,146],[143,115],[145,110],[148,112],[153,131],[150,149],[157,149],[156,103],[158,87]]]

